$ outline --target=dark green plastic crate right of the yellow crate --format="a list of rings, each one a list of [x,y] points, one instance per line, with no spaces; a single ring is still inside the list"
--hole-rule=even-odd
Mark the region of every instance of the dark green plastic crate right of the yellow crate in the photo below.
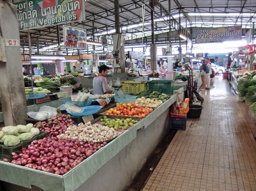
[[[172,95],[174,84],[172,80],[153,80],[149,82],[149,89]]]

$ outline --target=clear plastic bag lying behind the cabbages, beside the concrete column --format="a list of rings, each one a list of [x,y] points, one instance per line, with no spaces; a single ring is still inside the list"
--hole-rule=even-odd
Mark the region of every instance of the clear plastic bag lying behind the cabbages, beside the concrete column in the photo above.
[[[57,114],[56,110],[57,109],[54,107],[43,106],[43,107],[40,107],[38,112],[30,111],[27,113],[27,115],[33,119],[42,121],[55,116]]]

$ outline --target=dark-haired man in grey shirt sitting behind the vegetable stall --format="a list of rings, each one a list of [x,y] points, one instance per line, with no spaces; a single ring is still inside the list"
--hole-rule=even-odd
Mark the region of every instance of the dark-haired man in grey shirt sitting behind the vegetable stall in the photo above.
[[[99,74],[93,78],[93,94],[102,95],[104,93],[112,93],[113,90],[110,90],[107,86],[106,75],[110,68],[106,65],[102,65],[98,68]]]

